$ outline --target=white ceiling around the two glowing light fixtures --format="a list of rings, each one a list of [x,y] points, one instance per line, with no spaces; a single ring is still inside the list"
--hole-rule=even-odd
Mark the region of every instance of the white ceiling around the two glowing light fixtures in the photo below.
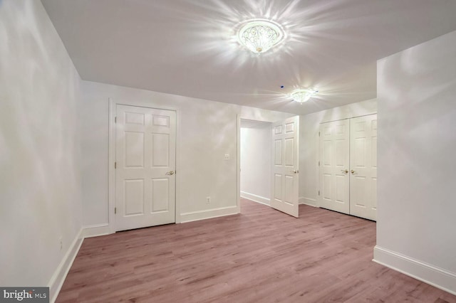
[[[454,0],[42,3],[83,80],[301,115],[375,98],[376,60],[456,30]],[[239,46],[250,18],[280,23],[284,43]],[[311,86],[303,105],[287,95]]]

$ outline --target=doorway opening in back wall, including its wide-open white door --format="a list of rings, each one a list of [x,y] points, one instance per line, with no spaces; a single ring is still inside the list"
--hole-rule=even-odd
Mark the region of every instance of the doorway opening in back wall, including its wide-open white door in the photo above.
[[[299,116],[276,122],[239,118],[237,138],[237,212],[244,196],[299,218]]]

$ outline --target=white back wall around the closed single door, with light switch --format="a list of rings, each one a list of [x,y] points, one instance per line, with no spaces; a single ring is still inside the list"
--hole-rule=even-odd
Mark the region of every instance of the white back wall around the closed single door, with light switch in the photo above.
[[[237,117],[289,114],[160,92],[83,82],[83,224],[108,223],[108,98],[177,110],[177,220],[217,215],[237,203]],[[230,160],[224,160],[224,154]],[[206,203],[211,196],[212,203]],[[180,218],[179,218],[180,217]]]

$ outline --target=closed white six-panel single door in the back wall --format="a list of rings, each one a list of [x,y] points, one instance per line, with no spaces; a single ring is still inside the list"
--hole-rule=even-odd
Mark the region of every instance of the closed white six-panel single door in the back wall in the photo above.
[[[176,113],[116,106],[115,226],[175,222]]]

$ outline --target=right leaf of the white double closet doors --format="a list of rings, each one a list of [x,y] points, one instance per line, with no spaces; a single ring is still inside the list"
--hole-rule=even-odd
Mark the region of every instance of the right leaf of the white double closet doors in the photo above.
[[[377,216],[377,115],[350,120],[350,214]]]

